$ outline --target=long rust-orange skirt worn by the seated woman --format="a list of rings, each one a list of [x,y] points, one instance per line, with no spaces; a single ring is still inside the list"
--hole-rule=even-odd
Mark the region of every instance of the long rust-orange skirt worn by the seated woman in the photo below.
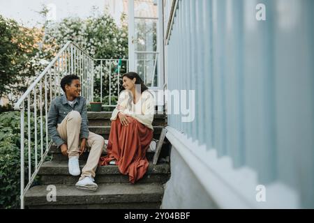
[[[153,139],[153,130],[135,118],[128,118],[131,121],[128,126],[123,126],[119,117],[112,121],[107,155],[100,157],[99,165],[106,166],[110,161],[117,160],[121,174],[128,174],[130,183],[135,183],[149,167],[146,152]]]

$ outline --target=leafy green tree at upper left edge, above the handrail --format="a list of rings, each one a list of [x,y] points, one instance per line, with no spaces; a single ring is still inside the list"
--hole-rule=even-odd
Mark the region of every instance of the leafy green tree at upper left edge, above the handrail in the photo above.
[[[36,33],[0,15],[0,98],[24,90],[19,83],[35,74],[29,61],[38,52]]]

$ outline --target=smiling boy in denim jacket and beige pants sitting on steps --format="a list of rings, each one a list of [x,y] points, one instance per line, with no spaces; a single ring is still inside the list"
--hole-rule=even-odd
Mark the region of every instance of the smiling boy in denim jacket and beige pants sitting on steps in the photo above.
[[[80,175],[79,156],[86,147],[91,148],[87,164],[75,184],[78,189],[94,192],[95,171],[105,140],[98,134],[89,132],[86,99],[80,96],[81,84],[76,75],[61,79],[64,95],[52,100],[48,113],[48,132],[54,144],[68,156],[68,171],[72,176]]]

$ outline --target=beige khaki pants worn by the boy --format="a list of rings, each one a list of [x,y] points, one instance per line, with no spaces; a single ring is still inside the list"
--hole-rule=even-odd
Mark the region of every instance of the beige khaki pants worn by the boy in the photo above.
[[[69,112],[66,118],[58,124],[57,131],[61,139],[67,142],[68,157],[74,157],[80,155],[80,128],[82,118],[80,112]],[[90,148],[87,164],[82,169],[82,175],[80,180],[86,176],[95,177],[95,171],[98,166],[99,158],[103,152],[105,145],[105,139],[99,134],[89,132],[89,138],[87,139],[87,147]]]

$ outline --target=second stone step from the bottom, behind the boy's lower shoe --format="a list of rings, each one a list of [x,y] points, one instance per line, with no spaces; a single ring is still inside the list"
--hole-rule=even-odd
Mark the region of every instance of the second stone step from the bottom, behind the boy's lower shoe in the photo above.
[[[86,162],[80,162],[80,169]],[[48,161],[38,172],[42,185],[74,185],[78,176],[68,174],[67,161]],[[137,183],[166,183],[170,178],[170,165],[167,163],[153,165],[151,162],[144,177]],[[96,171],[96,183],[128,183],[128,176],[120,173],[117,166],[98,167]]]

